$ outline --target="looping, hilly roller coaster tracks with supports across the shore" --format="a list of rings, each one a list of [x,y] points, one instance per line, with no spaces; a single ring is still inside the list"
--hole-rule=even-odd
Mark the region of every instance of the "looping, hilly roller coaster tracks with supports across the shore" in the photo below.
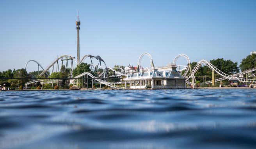
[[[146,67],[144,70],[142,69],[142,66],[141,66],[141,60],[144,56],[148,56],[149,57],[149,60],[150,60],[150,63],[149,63],[149,66]],[[215,82],[218,82],[218,81],[221,81],[221,80],[226,80],[226,79],[230,79],[230,78],[238,78],[240,80],[240,82],[248,82],[248,83],[254,83],[256,82],[256,79],[245,79],[245,78],[240,78],[241,75],[243,74],[246,74],[246,73],[250,73],[250,72],[253,72],[253,71],[256,71],[256,68],[253,68],[253,69],[249,69],[249,70],[246,70],[246,71],[243,71],[243,72],[240,72],[240,73],[236,73],[236,74],[232,74],[232,75],[228,75],[226,73],[223,73],[222,71],[220,71],[219,69],[217,69],[217,67],[213,66],[213,64],[211,64],[210,62],[208,62],[207,60],[200,60],[199,62],[197,62],[196,66],[192,69],[191,66],[190,66],[190,59],[188,58],[187,55],[185,54],[179,54],[177,55],[174,60],[173,60],[173,64],[176,65],[176,62],[177,60],[180,58],[180,57],[184,57],[186,60],[187,60],[187,66],[182,70],[185,71],[185,73],[182,74],[183,77],[187,78],[186,82],[188,84],[192,84],[192,82],[189,82],[189,80],[194,80],[194,76],[195,76],[195,73],[198,71],[198,69],[202,66],[202,65],[205,65],[207,67],[209,67],[210,69],[212,69],[215,73],[219,74],[220,76],[222,76],[222,78],[218,78],[218,79],[215,79]],[[84,72],[84,73],[81,73],[77,76],[72,76],[72,71],[74,69],[74,66],[73,66],[73,61],[75,61],[76,63],[76,66],[80,65],[82,62],[85,61],[85,59],[90,59],[90,67],[91,67],[91,71],[94,72],[94,74],[98,74],[98,76],[94,76],[93,74],[89,73],[89,72]],[[92,55],[84,55],[79,62],[77,62],[75,60],[75,57],[72,57],[70,55],[62,55],[60,57],[57,57],[56,59],[54,59],[45,69],[41,66],[41,64],[39,64],[39,62],[37,62],[36,60],[29,60],[27,63],[26,63],[26,66],[25,66],[25,69],[27,69],[27,64],[29,62],[35,62],[37,63],[38,65],[38,72],[39,72],[39,67],[41,67],[41,69],[43,70],[43,72],[41,72],[39,74],[39,76],[43,76],[43,75],[46,75],[46,76],[49,76],[50,74],[50,69],[52,69],[52,72],[55,72],[55,68],[56,68],[56,72],[59,71],[59,64],[60,64],[60,61],[61,60],[61,66],[64,65],[65,63],[63,63],[63,61],[65,62],[66,61],[66,67],[71,69],[71,73],[70,73],[70,82],[69,84],[76,84],[77,82],[75,80],[78,80],[78,79],[81,79],[81,78],[85,78],[85,75],[87,76],[90,76],[93,80],[96,80],[97,82],[100,82],[102,84],[105,84],[109,87],[112,87],[112,88],[115,88],[115,89],[125,89],[125,87],[121,87],[121,86],[118,86],[118,84],[123,84],[125,83],[126,85],[126,82],[109,82],[107,81],[106,78],[108,78],[109,76],[110,77],[113,77],[113,75],[111,76],[110,75],[110,72],[113,72],[114,73],[114,76],[117,76],[117,77],[125,77],[127,75],[127,73],[124,72],[124,70],[122,68],[119,68],[119,67],[107,67],[107,65],[105,64],[105,61],[103,59],[101,59],[100,56],[92,56]],[[68,66],[68,60],[71,60],[71,66],[69,67]],[[97,61],[97,62],[94,62],[94,61]],[[98,71],[99,69],[101,69],[101,71]],[[154,66],[154,63],[153,63],[153,59],[151,57],[151,55],[149,53],[142,53],[142,55],[140,55],[139,57],[139,61],[138,61],[138,67],[137,67],[137,70],[136,70],[136,73],[140,72],[140,71],[154,71],[155,70],[155,66]],[[190,72],[190,73],[188,73]],[[121,78],[120,78],[121,80]],[[57,83],[59,82],[60,80],[58,79],[49,79],[49,80],[42,80],[42,79],[39,79],[39,80],[33,80],[33,81],[30,81],[30,82],[27,82],[25,85],[30,85],[30,84],[33,84],[33,83],[36,83],[36,82],[40,82],[40,83]],[[88,83],[88,82],[87,82]],[[93,81],[92,81],[93,83]],[[208,81],[206,82],[206,84],[210,84],[212,83],[212,81]],[[117,85],[116,85],[117,84]]]

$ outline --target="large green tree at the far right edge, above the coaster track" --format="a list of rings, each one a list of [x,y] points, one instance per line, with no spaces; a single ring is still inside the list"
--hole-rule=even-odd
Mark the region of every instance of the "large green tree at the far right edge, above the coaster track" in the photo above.
[[[252,69],[256,67],[256,54],[248,55],[245,59],[242,60],[240,66],[241,71]],[[256,75],[256,72],[252,72]]]

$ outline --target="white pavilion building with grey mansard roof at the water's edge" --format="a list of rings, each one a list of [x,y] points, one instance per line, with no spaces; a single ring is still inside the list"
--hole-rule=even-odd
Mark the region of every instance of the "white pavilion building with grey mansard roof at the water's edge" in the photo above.
[[[140,71],[130,73],[124,78],[125,82],[130,83],[130,89],[178,89],[185,88],[185,80],[176,70],[176,65],[172,65],[171,70]]]

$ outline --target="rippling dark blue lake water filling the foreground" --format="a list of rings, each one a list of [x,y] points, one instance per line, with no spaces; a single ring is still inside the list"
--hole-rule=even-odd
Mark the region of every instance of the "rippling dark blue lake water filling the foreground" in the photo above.
[[[256,90],[0,92],[0,148],[256,148]]]

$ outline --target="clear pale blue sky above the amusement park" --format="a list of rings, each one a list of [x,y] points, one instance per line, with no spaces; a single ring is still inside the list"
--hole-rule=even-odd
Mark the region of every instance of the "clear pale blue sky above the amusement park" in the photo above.
[[[256,50],[256,0],[1,0],[0,71],[43,67],[57,55],[100,55],[107,66],[155,66],[185,53],[190,60],[231,59]],[[147,57],[142,63],[149,64]],[[185,64],[185,59],[178,64]],[[30,63],[28,72],[37,70]]]

